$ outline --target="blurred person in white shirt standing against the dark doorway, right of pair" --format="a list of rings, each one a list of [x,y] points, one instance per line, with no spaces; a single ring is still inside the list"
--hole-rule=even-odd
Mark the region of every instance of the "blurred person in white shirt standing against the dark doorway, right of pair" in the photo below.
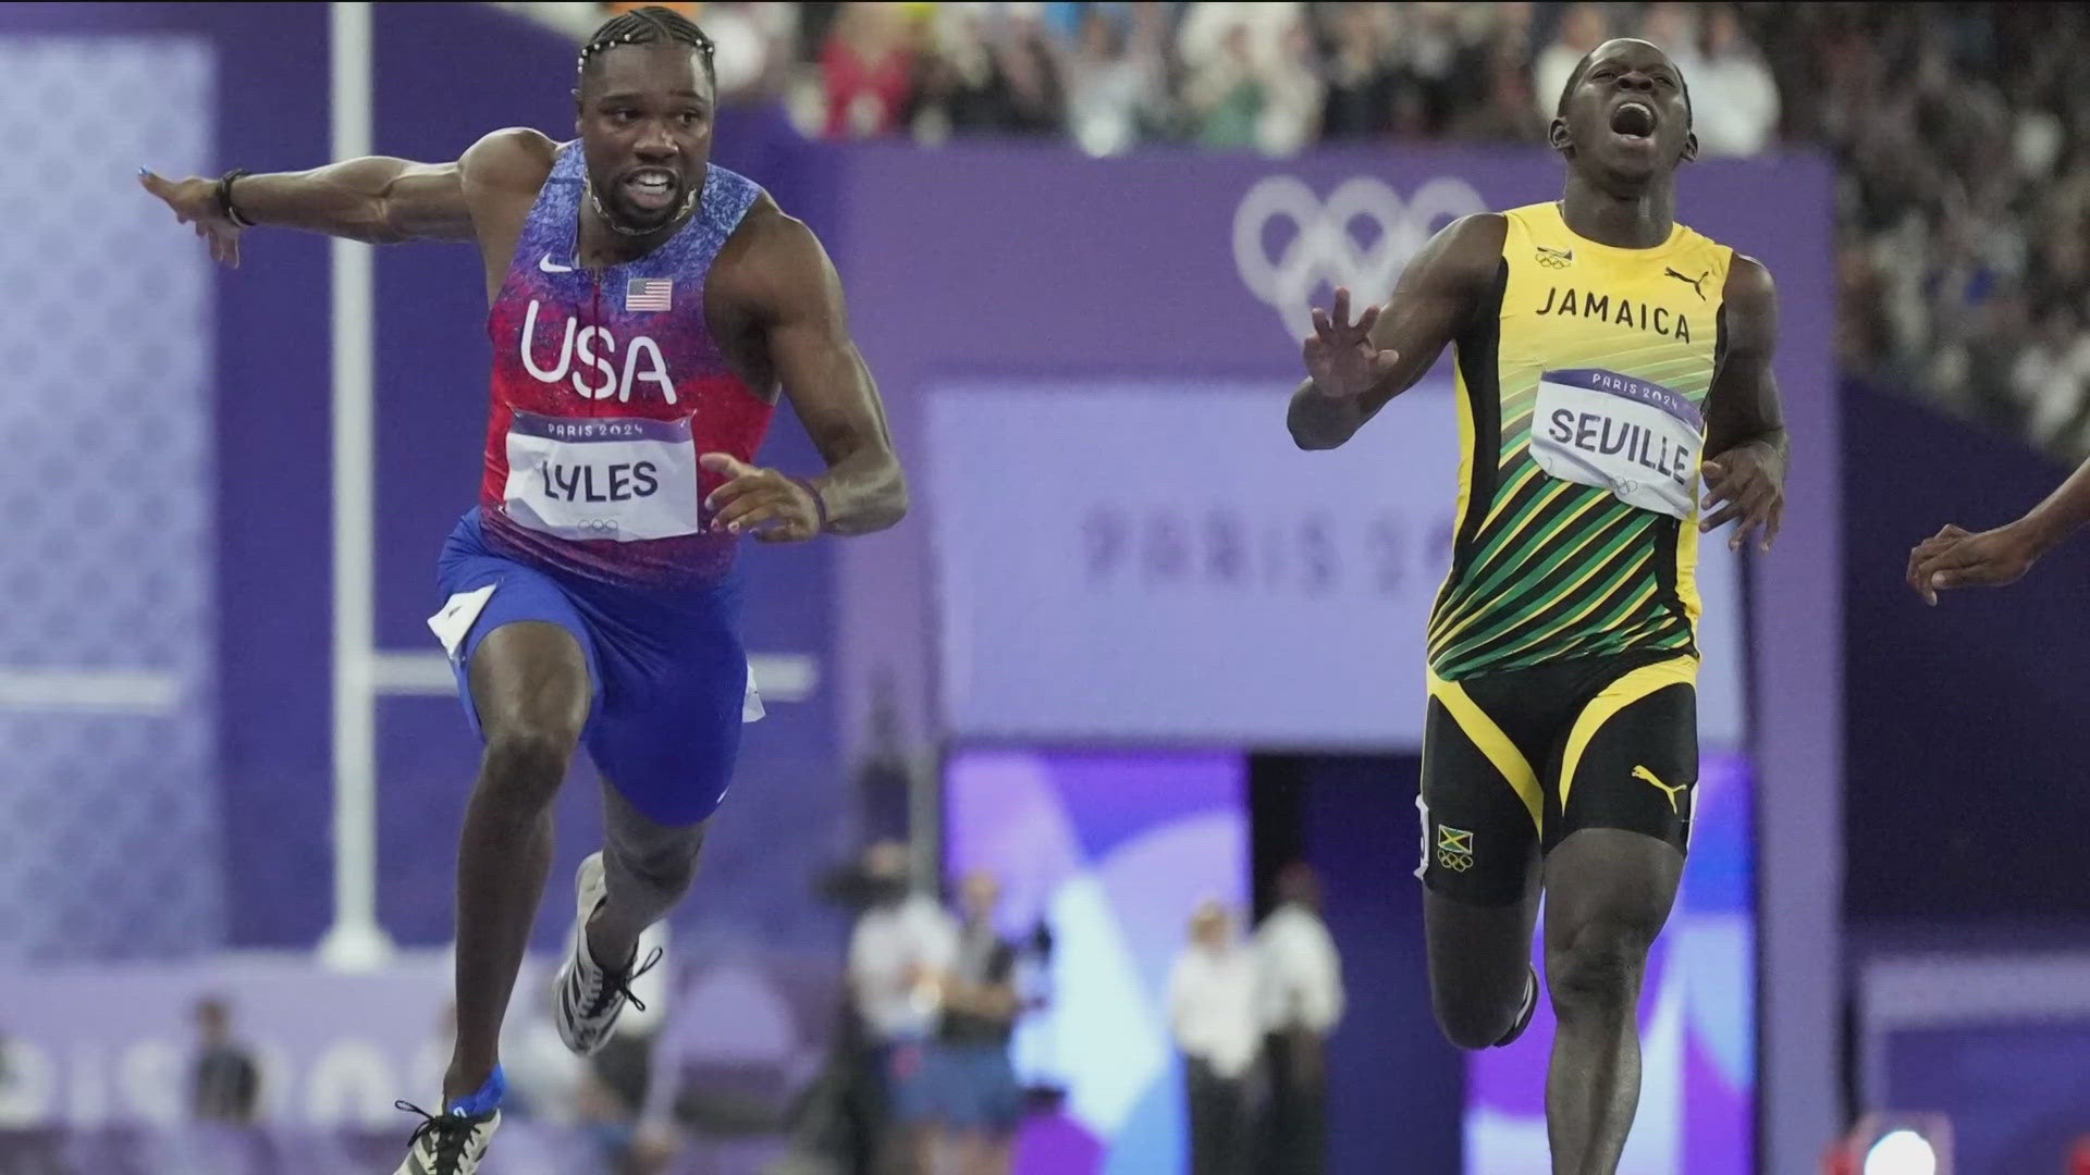
[[[1256,1001],[1271,1106],[1262,1169],[1321,1175],[1327,1165],[1327,1037],[1342,1022],[1342,958],[1321,922],[1321,884],[1304,863],[1277,874],[1277,909],[1256,928]]]

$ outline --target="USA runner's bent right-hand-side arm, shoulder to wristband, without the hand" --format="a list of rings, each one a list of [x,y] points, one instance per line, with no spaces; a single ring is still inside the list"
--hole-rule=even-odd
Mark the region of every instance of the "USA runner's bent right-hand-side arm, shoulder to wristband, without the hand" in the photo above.
[[[828,470],[813,479],[828,531],[882,531],[907,514],[907,479],[892,454],[872,370],[849,337],[842,280],[803,222],[757,209],[746,251],[721,284],[767,343],[769,362]]]

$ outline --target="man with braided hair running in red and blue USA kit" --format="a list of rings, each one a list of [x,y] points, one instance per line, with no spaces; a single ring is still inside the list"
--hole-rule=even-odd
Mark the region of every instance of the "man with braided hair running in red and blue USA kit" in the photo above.
[[[558,1029],[594,1052],[629,999],[640,932],[688,891],[752,700],[740,535],[890,527],[907,489],[819,240],[709,165],[713,46],[669,8],[581,50],[577,142],[502,130],[456,163],[142,176],[219,261],[240,230],[477,240],[493,339],[485,477],[428,621],[485,738],[458,855],[458,1041],[399,1175],[470,1175],[500,1125],[502,1016],[579,744],[610,784],[581,866]],[[777,391],[826,458],[757,468]],[[656,955],[658,958],[658,955]]]

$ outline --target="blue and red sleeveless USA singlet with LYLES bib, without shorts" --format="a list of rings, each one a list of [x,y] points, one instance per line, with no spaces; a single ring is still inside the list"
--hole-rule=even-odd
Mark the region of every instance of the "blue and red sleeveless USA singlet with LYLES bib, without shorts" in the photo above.
[[[594,579],[717,583],[736,537],[704,533],[717,479],[696,458],[752,462],[773,404],[725,364],[704,278],[761,188],[711,165],[671,240],[594,272],[575,255],[583,167],[577,144],[560,148],[487,316],[487,539]]]

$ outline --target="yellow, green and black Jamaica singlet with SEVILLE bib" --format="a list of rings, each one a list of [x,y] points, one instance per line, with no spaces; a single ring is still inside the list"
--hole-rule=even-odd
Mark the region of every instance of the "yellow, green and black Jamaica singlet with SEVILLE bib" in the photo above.
[[[1455,341],[1459,510],[1430,617],[1457,682],[1620,652],[1695,654],[1703,404],[1733,249],[1653,249],[1503,213],[1496,284]]]

